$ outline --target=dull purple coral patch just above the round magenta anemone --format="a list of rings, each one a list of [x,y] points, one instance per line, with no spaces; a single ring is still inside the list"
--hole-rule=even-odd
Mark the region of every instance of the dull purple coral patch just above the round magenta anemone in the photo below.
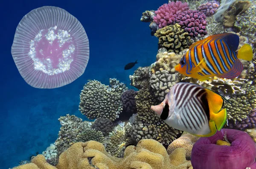
[[[256,128],[256,110],[253,110],[247,118],[242,121],[229,121],[228,128],[238,129],[238,130],[246,130]]]

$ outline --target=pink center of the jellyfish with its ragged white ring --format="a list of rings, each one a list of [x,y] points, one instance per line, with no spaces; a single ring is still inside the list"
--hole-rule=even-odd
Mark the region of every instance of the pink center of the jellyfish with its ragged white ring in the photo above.
[[[42,29],[29,45],[35,70],[54,75],[70,69],[75,46],[68,31],[59,30],[57,26]]]

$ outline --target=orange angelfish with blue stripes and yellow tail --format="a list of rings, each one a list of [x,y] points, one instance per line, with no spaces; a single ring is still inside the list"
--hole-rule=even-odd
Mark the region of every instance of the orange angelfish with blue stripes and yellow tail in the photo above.
[[[175,70],[199,80],[209,80],[214,76],[226,79],[236,78],[244,68],[239,59],[247,61],[253,59],[250,45],[245,44],[237,51],[238,46],[237,34],[209,36],[193,43],[181,58],[180,63],[175,66]]]

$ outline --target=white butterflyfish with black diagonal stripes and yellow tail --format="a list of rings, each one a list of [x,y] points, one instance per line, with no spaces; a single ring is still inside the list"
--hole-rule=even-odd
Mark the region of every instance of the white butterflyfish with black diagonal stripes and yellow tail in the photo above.
[[[214,135],[227,121],[224,98],[205,87],[180,82],[151,109],[169,126],[200,137]]]

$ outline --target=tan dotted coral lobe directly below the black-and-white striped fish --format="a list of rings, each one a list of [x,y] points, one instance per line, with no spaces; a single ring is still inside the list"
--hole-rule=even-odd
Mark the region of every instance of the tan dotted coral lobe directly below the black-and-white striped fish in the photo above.
[[[186,133],[172,141],[172,143],[168,146],[167,152],[171,154],[175,149],[181,147],[186,150],[186,160],[190,160],[192,147],[196,141],[198,141],[200,137]]]

